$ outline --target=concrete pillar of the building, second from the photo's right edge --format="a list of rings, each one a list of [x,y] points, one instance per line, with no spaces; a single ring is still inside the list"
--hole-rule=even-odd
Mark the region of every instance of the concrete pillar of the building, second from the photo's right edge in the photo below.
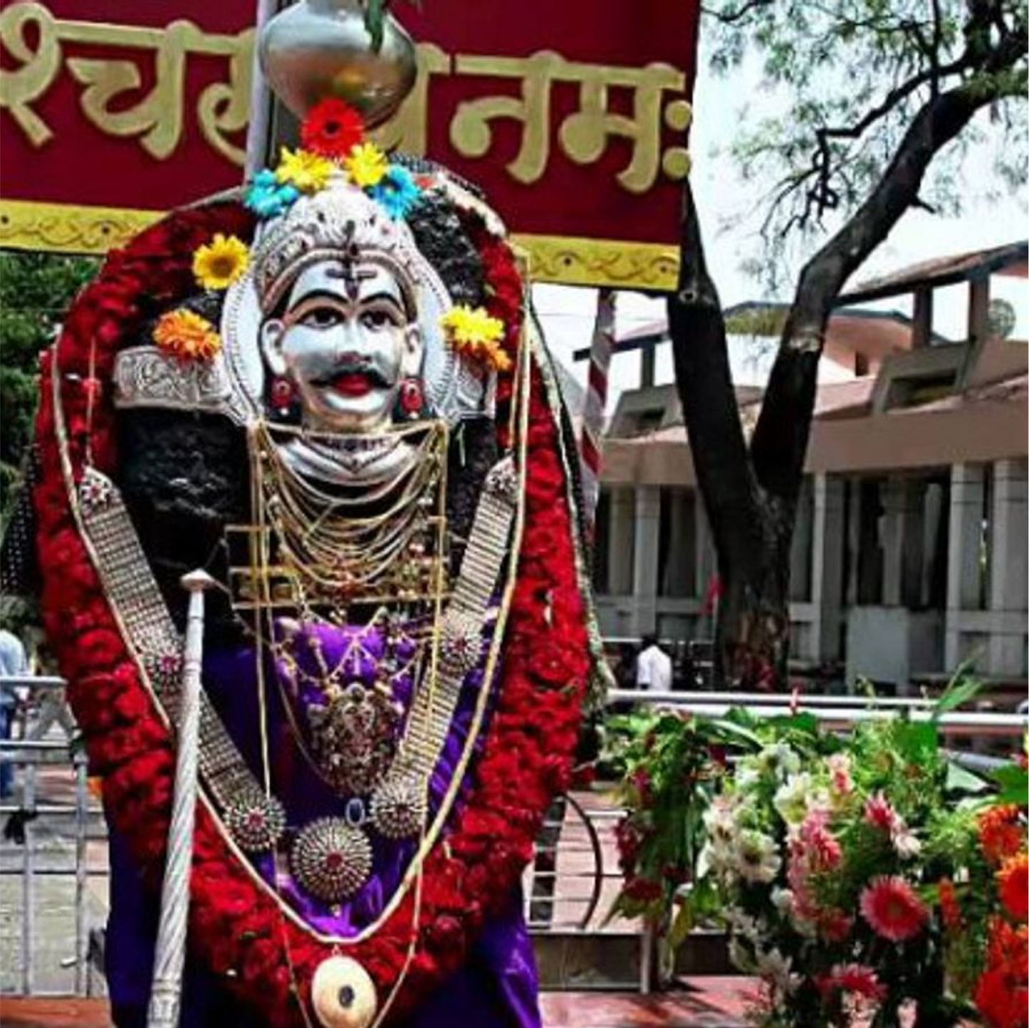
[[[951,468],[951,511],[947,555],[947,667],[966,655],[961,645],[961,614],[980,608],[980,567],[986,476],[982,464]]]

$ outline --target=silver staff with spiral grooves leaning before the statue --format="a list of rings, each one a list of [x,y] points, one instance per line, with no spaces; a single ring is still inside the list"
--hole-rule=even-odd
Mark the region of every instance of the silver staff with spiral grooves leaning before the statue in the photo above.
[[[189,593],[189,617],[182,666],[182,695],[178,707],[175,802],[168,832],[168,862],[161,896],[161,927],[153,961],[148,1028],[178,1028],[182,1003],[182,968],[186,958],[189,878],[197,821],[204,594],[214,584],[214,579],[206,571],[193,571],[182,579],[183,589]]]

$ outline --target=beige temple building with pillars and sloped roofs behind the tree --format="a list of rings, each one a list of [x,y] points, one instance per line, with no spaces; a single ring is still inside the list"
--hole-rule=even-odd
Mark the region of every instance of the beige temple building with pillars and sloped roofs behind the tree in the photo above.
[[[1029,242],[943,259],[841,298],[828,330],[792,557],[793,655],[901,689],[962,662],[1029,682],[1029,342],[997,299]],[[937,330],[960,288],[967,329]],[[994,290],[991,299],[991,288]],[[882,302],[911,315],[882,310]],[[879,309],[868,307],[876,304]],[[774,324],[775,306],[729,312]],[[772,335],[759,330],[752,334]],[[710,638],[715,556],[674,386],[654,385],[657,324],[605,444],[596,584],[604,632]],[[770,341],[766,365],[774,356]],[[756,421],[761,389],[740,386]]]

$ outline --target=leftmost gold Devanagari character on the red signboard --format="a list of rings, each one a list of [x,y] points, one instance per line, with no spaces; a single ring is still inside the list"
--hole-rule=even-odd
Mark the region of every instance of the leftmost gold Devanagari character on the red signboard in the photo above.
[[[35,34],[36,45],[29,43]],[[54,138],[50,127],[32,109],[61,72],[61,40],[50,12],[38,3],[15,3],[0,11],[0,46],[19,62],[16,71],[0,69],[0,109],[10,111],[33,146]]]

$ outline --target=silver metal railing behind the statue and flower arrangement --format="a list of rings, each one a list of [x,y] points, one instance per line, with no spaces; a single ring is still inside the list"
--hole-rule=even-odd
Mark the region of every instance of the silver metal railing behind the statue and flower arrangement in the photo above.
[[[0,688],[11,685],[31,694],[33,716],[24,722],[21,738],[0,741],[0,763],[13,764],[21,772],[20,802],[0,801],[0,825],[11,836],[10,844],[0,843],[0,884],[20,878],[14,891],[20,894],[22,908],[19,973],[16,981],[0,981],[0,992],[41,994],[37,973],[39,917],[43,913],[40,888],[48,879],[64,877],[72,880],[74,925],[69,952],[62,958],[61,966],[65,970],[74,969],[69,992],[86,996],[96,984],[95,961],[91,957],[98,948],[97,933],[101,927],[91,924],[87,892],[94,877],[107,875],[105,867],[90,865],[91,839],[98,842],[103,839],[101,811],[91,797],[86,760],[80,747],[72,737],[64,741],[47,738],[55,724],[60,724],[66,733],[72,728],[64,704],[64,682],[0,678]],[[892,717],[900,711],[915,720],[933,716],[929,700],[861,696],[618,690],[610,695],[609,703],[655,706],[708,716],[722,716],[732,708],[772,716],[803,711],[832,731],[847,731],[862,721]],[[1025,735],[1029,731],[1029,712],[951,712],[939,717],[938,722],[943,735],[960,748],[961,743],[973,737],[1015,739]],[[959,752],[958,755],[962,760],[978,763],[984,770],[997,763],[982,754]],[[47,800],[39,788],[41,777],[61,767],[70,769],[72,774],[71,800],[67,803]],[[618,808],[589,794],[568,795],[554,805],[544,822],[535,863],[526,879],[526,915],[535,935],[590,936],[602,932],[609,902],[620,880],[613,832],[620,816]],[[60,828],[59,834],[67,841],[73,857],[70,866],[47,861],[45,847],[40,845],[41,835],[45,835],[41,826],[51,832]],[[92,836],[91,829],[94,829]],[[638,935],[639,985],[646,991],[651,978],[653,940],[646,926],[640,924],[623,925],[615,934],[625,937],[630,932]]]

